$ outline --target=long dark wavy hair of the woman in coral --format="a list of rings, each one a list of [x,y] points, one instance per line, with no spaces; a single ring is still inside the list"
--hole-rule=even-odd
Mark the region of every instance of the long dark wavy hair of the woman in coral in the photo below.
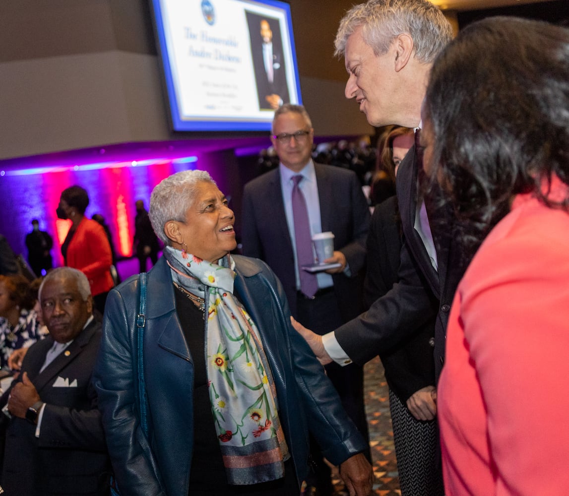
[[[566,28],[512,17],[471,24],[435,61],[423,115],[431,179],[450,196],[469,255],[518,193],[568,209],[547,188],[554,175],[569,184]]]

